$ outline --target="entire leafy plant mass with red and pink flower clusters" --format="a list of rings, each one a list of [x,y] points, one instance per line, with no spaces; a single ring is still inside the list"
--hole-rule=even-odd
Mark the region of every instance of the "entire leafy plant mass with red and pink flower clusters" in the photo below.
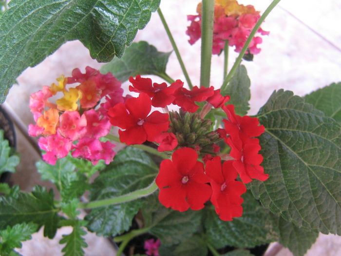
[[[42,226],[51,239],[73,228],[60,240],[65,256],[85,255],[86,232],[110,237],[117,255],[149,256],[249,255],[245,248],[276,241],[303,256],[319,232],[340,235],[341,83],[304,98],[275,91],[247,115],[241,62],[261,58],[262,38],[271,35],[261,24],[279,1],[263,14],[237,0],[193,4],[183,17],[189,47],[201,42],[193,85],[160,0],[12,0],[0,18],[2,101],[26,67],[67,40],[110,62],[75,67],[31,95],[37,169],[60,197],[38,185],[27,193],[1,184],[0,254],[18,255]],[[170,53],[132,43],[156,11],[184,81],[166,73]],[[229,47],[239,56],[231,69],[221,67],[223,83],[211,84],[211,56],[227,63]],[[127,249],[136,238],[142,251]]]

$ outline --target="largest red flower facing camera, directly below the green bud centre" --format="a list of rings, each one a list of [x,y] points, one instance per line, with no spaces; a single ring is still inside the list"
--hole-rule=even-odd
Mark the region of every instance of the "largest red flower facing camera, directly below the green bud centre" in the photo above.
[[[198,154],[191,148],[177,149],[172,160],[161,162],[156,184],[160,189],[159,200],[174,210],[200,210],[211,196],[212,189],[204,173],[204,164],[197,161]]]

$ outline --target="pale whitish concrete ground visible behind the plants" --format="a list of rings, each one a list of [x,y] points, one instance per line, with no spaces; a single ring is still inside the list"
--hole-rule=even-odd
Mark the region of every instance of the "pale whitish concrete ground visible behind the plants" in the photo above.
[[[199,83],[200,74],[200,41],[193,46],[188,43],[185,31],[189,23],[186,15],[195,14],[198,0],[162,0],[161,9],[176,40],[189,76],[194,85]],[[254,4],[262,13],[270,0],[240,0],[243,4]],[[253,62],[246,65],[251,80],[251,110],[256,114],[264,105],[273,90],[284,88],[296,95],[303,96],[311,91],[341,81],[341,2],[338,0],[283,0],[267,17],[262,28],[270,31],[269,36],[263,36],[260,45],[262,51],[254,57]],[[161,26],[156,13],[143,31],[139,31],[135,41],[146,40],[156,46],[159,51],[171,51],[167,35]],[[229,67],[237,54],[230,51]],[[33,123],[28,102],[29,95],[50,85],[61,74],[70,76],[73,68],[78,67],[83,72],[87,65],[100,68],[89,56],[89,51],[78,41],[64,44],[55,54],[45,59],[34,68],[28,68],[18,78],[19,85],[14,85],[6,100],[6,106],[13,110],[24,125]],[[223,59],[212,58],[211,85],[219,87],[222,83]],[[175,54],[170,56],[167,73],[173,79],[185,81]],[[161,81],[159,78],[152,78]],[[125,84],[127,88],[127,84]],[[18,130],[17,130],[18,131]],[[34,162],[39,159],[38,153],[27,140],[18,133],[18,151],[21,163],[12,181],[19,184],[23,190],[31,190],[35,184],[53,187],[48,182],[39,180]],[[54,240],[35,235],[32,241],[24,242],[19,251],[24,256],[59,256],[58,239],[62,234],[70,232],[67,228],[60,231]],[[321,235],[306,256],[337,256],[341,255],[341,237]],[[87,239],[89,247],[87,256],[115,255],[107,241],[90,235]],[[98,249],[102,251],[99,252]],[[279,251],[280,256],[291,256],[286,249]]]

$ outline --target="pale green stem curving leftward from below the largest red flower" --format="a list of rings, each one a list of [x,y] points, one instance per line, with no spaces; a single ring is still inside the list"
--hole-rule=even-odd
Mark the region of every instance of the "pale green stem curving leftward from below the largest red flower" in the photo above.
[[[108,198],[108,199],[102,199],[102,200],[97,200],[97,201],[92,201],[92,202],[87,202],[87,203],[79,203],[77,208],[82,208],[82,209],[90,209],[90,208],[96,208],[96,207],[101,207],[101,206],[108,206],[108,205],[113,205],[113,204],[119,204],[119,203],[125,203],[129,201],[133,201],[135,199],[141,198],[141,197],[147,197],[151,194],[153,194],[157,190],[157,185],[155,183],[155,180],[150,184],[148,187],[140,189],[140,190],[135,190],[131,193],[128,193],[123,196],[119,197],[113,197],[113,198]]]

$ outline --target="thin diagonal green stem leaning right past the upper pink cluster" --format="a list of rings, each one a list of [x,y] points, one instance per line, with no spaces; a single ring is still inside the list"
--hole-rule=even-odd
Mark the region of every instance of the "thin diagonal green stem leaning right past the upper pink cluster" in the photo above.
[[[272,9],[280,2],[281,0],[273,0],[269,7],[267,7],[267,9],[265,10],[265,12],[263,13],[263,15],[261,16],[261,18],[257,21],[255,27],[252,29],[249,37],[247,38],[244,47],[242,48],[242,51],[240,52],[238,58],[236,59],[236,62],[234,62],[230,72],[228,73],[228,75],[226,76],[224,83],[221,87],[221,90],[224,91],[227,83],[229,82],[229,80],[233,77],[234,72],[236,71],[238,65],[240,64],[240,62],[243,59],[243,56],[247,50],[247,47],[249,46],[252,38],[254,37],[254,35],[256,34],[257,30],[259,29],[259,27],[261,26],[262,22],[265,20],[265,18],[269,15],[269,13],[272,11]]]

